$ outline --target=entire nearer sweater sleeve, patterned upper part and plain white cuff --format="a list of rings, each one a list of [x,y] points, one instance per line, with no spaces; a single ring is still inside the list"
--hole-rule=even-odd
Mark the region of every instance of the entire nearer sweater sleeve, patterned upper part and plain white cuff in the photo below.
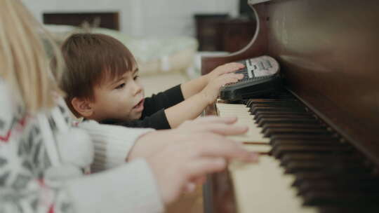
[[[18,190],[14,187],[0,186],[0,212],[164,211],[154,175],[142,159],[107,172],[70,179],[59,187],[46,186],[37,179]]]

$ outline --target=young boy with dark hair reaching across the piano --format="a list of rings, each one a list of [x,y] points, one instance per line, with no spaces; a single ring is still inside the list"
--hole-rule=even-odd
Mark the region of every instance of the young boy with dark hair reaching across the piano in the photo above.
[[[105,34],[74,34],[63,43],[62,54],[67,70],[60,84],[75,116],[127,127],[175,128],[215,102],[222,85],[243,78],[231,73],[243,64],[225,64],[144,98],[135,59],[117,39]]]

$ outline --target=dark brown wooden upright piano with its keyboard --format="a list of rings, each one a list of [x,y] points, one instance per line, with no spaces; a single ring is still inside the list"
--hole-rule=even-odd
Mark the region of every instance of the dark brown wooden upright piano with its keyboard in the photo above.
[[[270,55],[285,89],[206,109],[249,125],[234,139],[261,157],[208,177],[205,212],[379,212],[379,1],[247,4],[251,43],[201,72]]]

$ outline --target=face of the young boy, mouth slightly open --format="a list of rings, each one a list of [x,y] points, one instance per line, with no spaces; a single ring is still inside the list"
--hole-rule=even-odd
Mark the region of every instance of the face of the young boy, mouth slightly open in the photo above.
[[[116,79],[107,78],[94,88],[95,99],[91,102],[92,119],[102,121],[116,119],[130,121],[141,118],[144,90],[138,79],[138,68],[126,71]]]

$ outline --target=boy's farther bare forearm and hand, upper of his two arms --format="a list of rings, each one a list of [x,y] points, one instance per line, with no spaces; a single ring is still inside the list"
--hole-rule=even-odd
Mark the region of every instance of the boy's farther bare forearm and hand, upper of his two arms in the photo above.
[[[213,79],[217,78],[218,76],[222,74],[226,74],[232,71],[237,71],[239,69],[244,68],[244,64],[232,62],[229,64],[223,64],[219,67],[216,67],[211,71],[210,73],[200,76],[199,78],[192,79],[191,81],[187,81],[186,83],[182,83],[180,85],[180,88],[182,90],[182,94],[184,99],[187,99],[189,97],[192,97],[192,95],[195,95],[199,93],[201,90],[203,90],[206,85],[208,85],[209,82],[211,82]]]

